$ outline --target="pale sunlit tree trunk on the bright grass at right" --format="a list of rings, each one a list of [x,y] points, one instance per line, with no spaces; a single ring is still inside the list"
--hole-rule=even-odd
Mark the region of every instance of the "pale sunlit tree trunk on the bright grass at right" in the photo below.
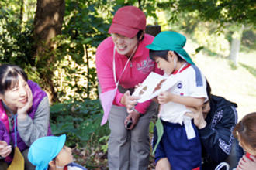
[[[244,31],[244,25],[239,30],[235,31],[232,35],[230,55],[229,58],[234,62],[235,66],[238,64],[240,42]]]

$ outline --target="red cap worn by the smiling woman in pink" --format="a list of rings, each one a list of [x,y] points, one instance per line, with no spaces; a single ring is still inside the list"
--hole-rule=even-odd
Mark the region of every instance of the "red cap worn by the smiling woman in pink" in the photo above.
[[[109,33],[118,33],[133,38],[139,30],[146,29],[146,16],[135,6],[119,8],[112,19]]]

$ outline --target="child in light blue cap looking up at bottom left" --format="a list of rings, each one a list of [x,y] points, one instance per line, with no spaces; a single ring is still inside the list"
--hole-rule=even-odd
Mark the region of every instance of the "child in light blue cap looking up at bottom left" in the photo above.
[[[73,162],[71,148],[64,145],[65,141],[65,134],[37,139],[29,148],[29,162],[36,170],[86,170]]]

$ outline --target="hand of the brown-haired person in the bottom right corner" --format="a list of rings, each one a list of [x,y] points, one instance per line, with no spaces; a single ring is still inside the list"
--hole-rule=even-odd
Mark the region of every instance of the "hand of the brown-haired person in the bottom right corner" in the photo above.
[[[249,158],[244,155],[242,158],[240,158],[240,161],[237,165],[237,170],[255,170],[256,169],[256,157],[254,155],[250,155]]]

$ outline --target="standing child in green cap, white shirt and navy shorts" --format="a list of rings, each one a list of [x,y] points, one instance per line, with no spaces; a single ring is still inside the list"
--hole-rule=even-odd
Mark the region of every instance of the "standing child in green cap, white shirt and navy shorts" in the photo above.
[[[182,34],[166,31],[146,46],[150,59],[156,61],[164,76],[175,77],[177,82],[157,97],[164,134],[155,151],[156,169],[201,169],[199,133],[192,118],[185,114],[191,112],[188,107],[202,107],[208,100],[206,78],[183,49],[185,42]]]

